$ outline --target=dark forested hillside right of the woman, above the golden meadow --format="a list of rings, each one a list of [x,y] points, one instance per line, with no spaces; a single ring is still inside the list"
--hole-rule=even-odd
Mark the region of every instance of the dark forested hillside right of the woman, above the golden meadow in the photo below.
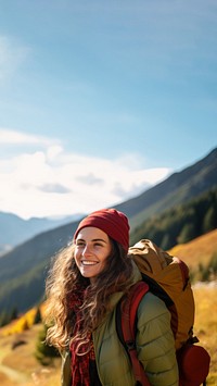
[[[162,249],[186,244],[217,228],[217,185],[184,203],[155,213],[132,228],[130,244],[150,238]]]

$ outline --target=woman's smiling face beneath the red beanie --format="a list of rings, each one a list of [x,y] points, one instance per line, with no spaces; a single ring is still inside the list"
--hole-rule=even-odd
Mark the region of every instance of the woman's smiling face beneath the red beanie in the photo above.
[[[112,251],[112,244],[106,233],[88,226],[78,233],[75,242],[75,262],[81,275],[90,283],[103,271],[105,261]]]

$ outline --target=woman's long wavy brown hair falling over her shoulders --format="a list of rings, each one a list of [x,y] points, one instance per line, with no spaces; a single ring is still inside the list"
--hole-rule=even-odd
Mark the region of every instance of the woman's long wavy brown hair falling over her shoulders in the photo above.
[[[81,276],[75,263],[73,244],[63,249],[52,263],[46,285],[46,324],[49,326],[47,343],[59,350],[67,347],[72,340],[86,344],[88,335],[110,311],[111,295],[117,291],[127,292],[132,284],[131,259],[127,257],[122,245],[110,240],[111,254],[94,284],[90,284],[89,278]],[[82,329],[75,335],[76,315],[71,303],[79,290],[85,294],[80,307]]]

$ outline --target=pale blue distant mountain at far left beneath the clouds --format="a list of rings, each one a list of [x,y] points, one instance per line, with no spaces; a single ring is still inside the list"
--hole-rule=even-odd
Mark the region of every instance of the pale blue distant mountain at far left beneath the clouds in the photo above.
[[[0,212],[0,254],[39,233],[53,229],[63,224],[76,221],[79,217],[81,217],[81,214],[61,219],[31,217],[29,220],[23,220],[15,214]]]

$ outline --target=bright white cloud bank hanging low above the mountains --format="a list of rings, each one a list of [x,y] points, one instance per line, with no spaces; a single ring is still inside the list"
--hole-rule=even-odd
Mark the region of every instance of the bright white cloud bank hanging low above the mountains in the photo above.
[[[87,213],[110,207],[136,196],[168,174],[166,169],[139,170],[137,154],[108,160],[67,153],[48,138],[16,132],[8,132],[0,144],[28,145],[29,141],[38,144],[39,150],[28,149],[0,160],[0,211],[26,219]],[[44,144],[47,147],[40,148]]]

